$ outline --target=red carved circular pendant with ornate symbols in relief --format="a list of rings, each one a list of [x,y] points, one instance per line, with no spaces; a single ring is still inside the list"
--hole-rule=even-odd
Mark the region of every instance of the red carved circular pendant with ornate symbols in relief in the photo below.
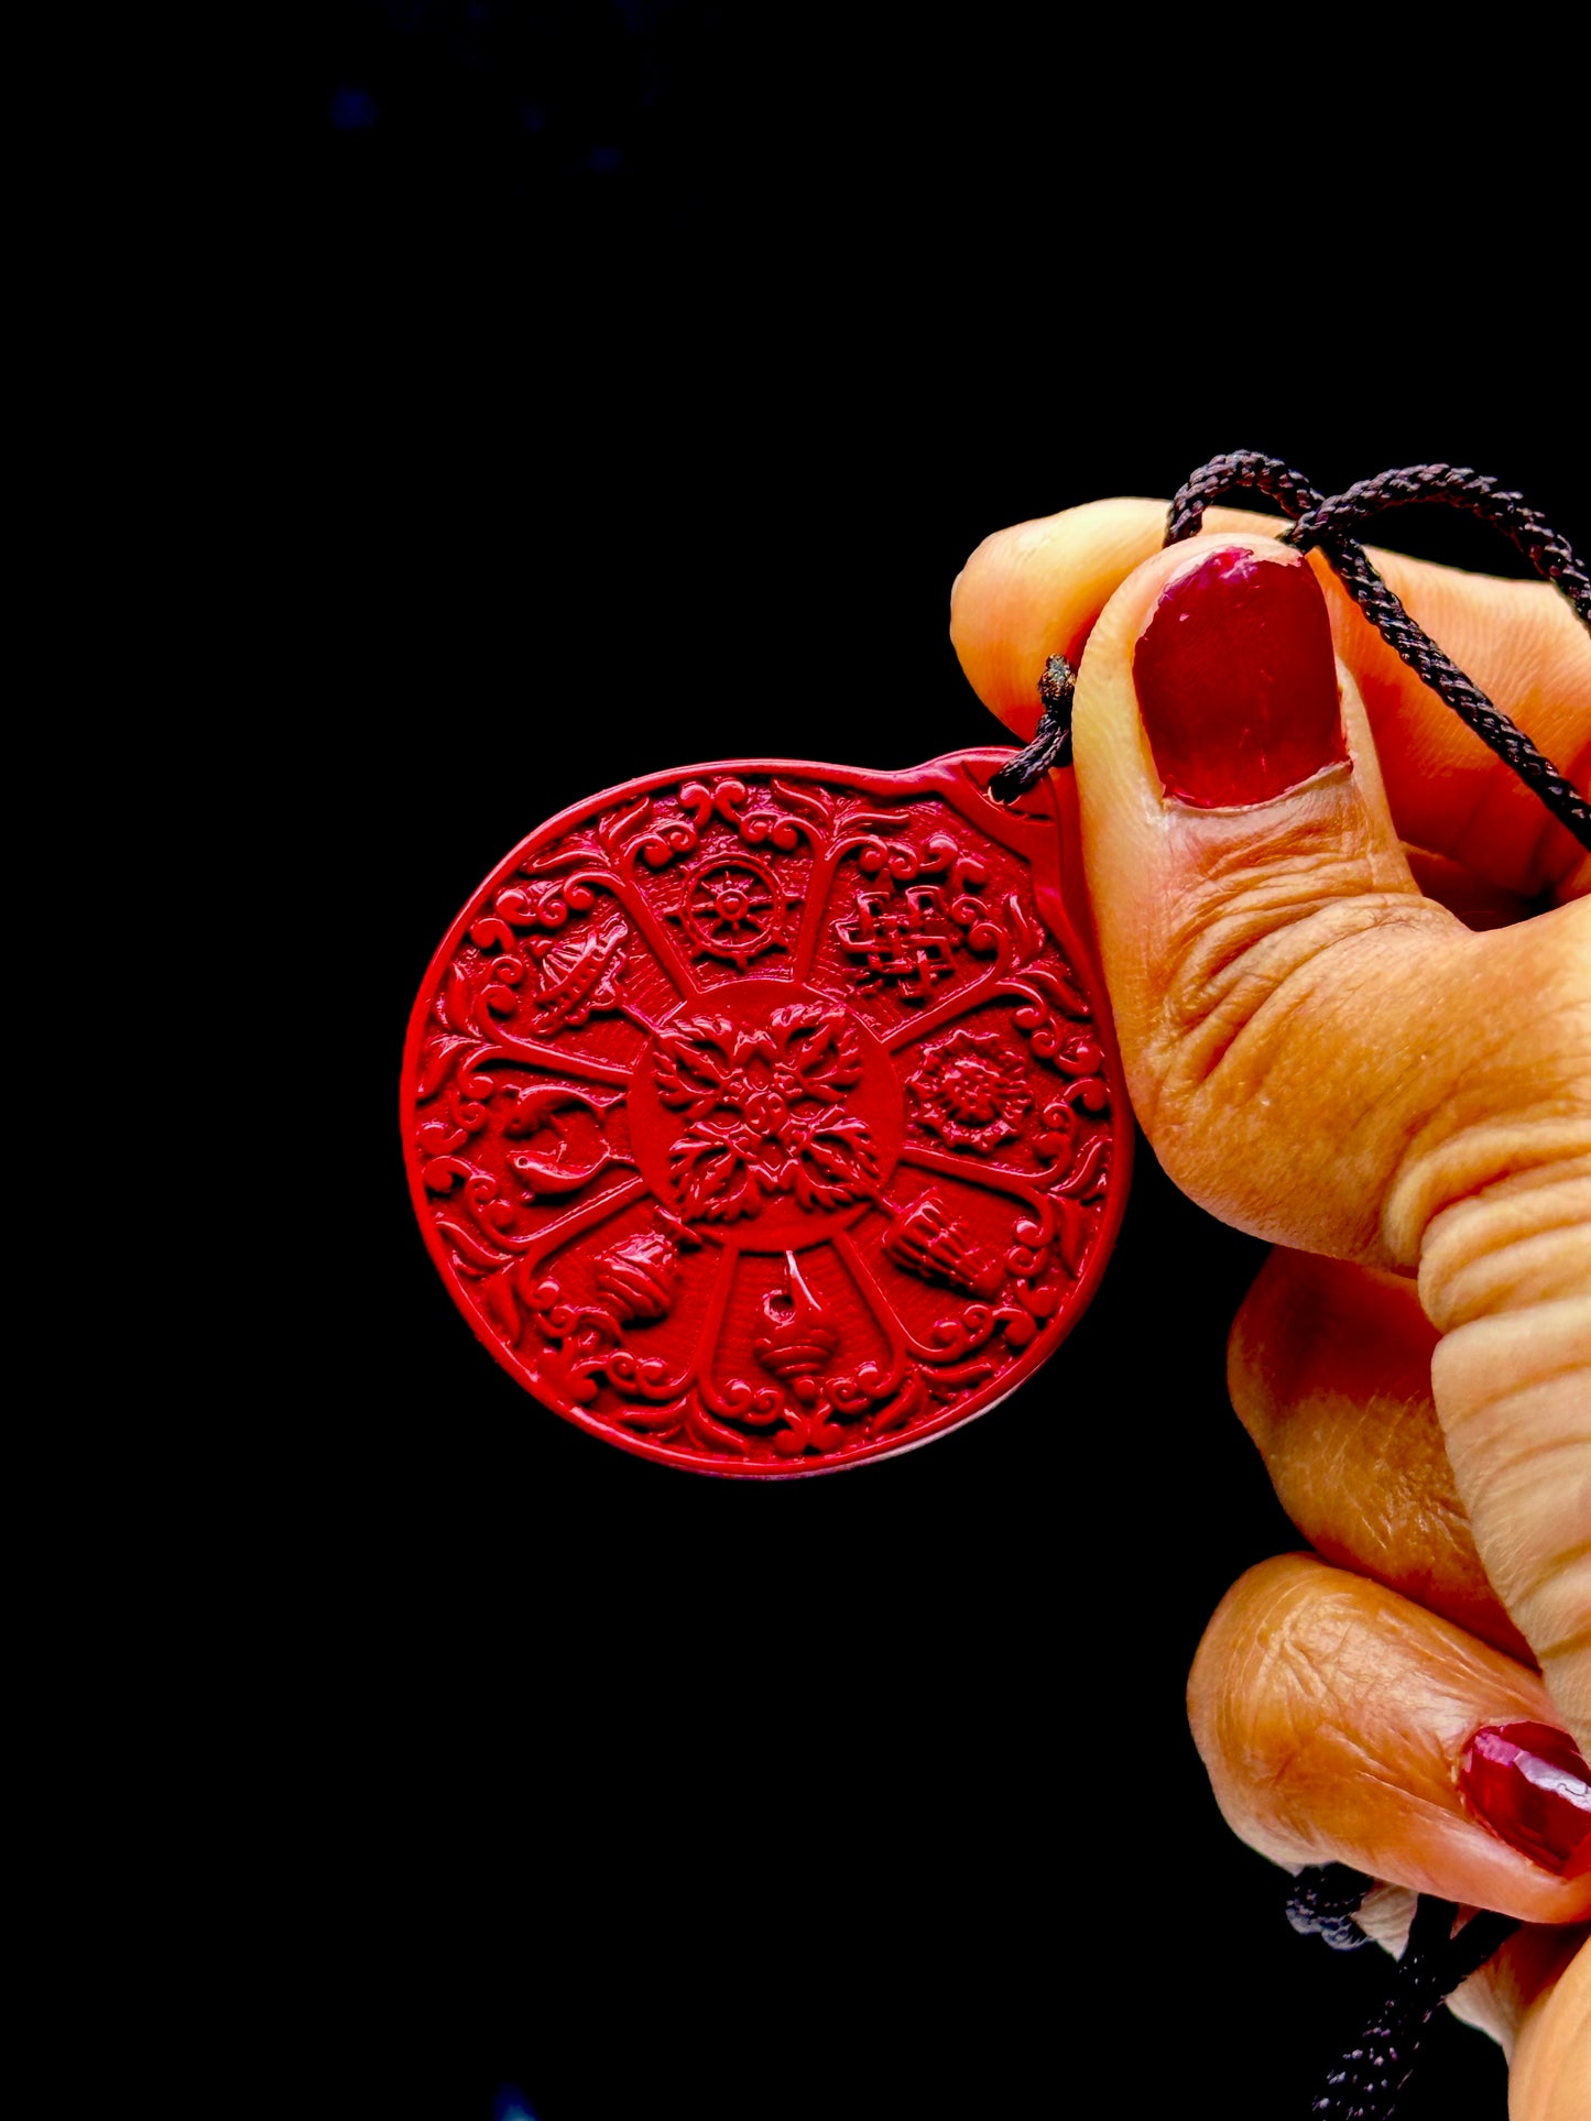
[[[1008,757],[651,774],[458,916],[409,1022],[409,1184],[543,1406],[698,1472],[827,1472],[1065,1338],[1131,1118],[1054,793],[984,793]]]

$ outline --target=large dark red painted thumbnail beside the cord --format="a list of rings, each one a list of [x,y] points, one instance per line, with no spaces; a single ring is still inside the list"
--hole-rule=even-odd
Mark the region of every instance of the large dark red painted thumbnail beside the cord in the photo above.
[[[1271,802],[1347,757],[1326,598],[1305,560],[1213,551],[1167,583],[1133,655],[1165,793]]]

